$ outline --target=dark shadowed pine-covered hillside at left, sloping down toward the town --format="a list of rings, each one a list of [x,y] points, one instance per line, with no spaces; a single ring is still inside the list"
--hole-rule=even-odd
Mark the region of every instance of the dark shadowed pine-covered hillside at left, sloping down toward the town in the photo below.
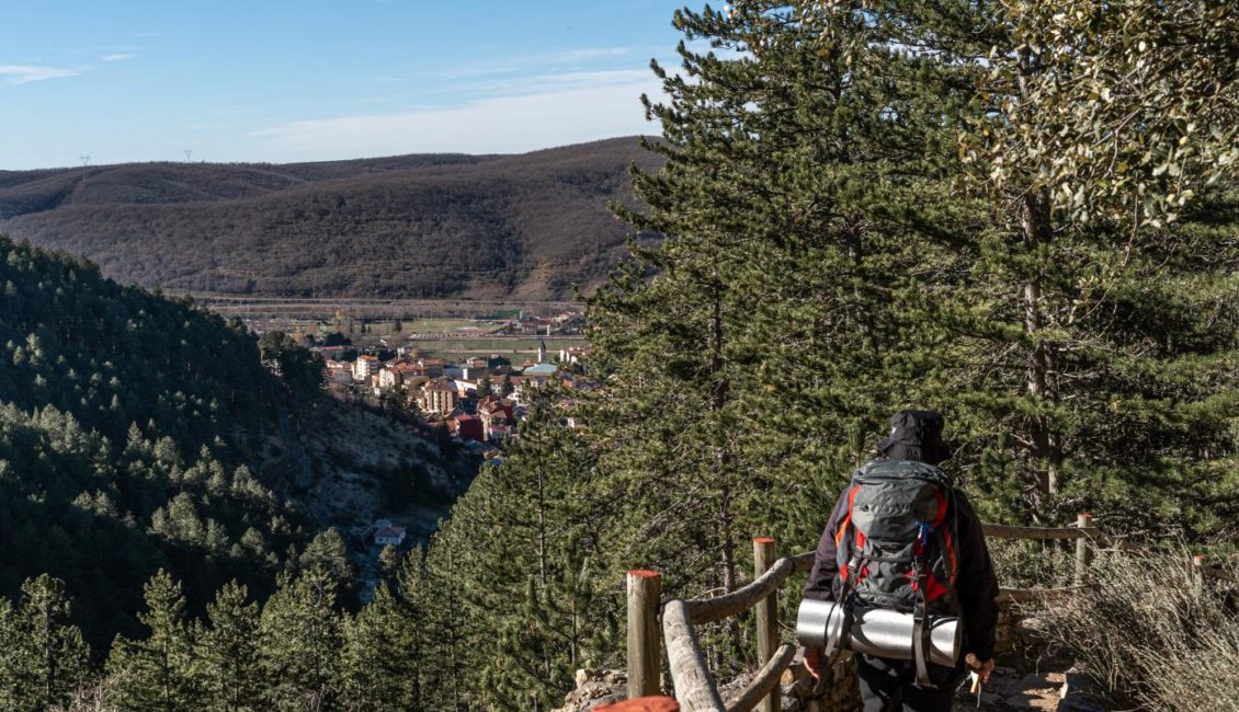
[[[284,456],[281,431],[338,407],[291,339],[0,237],[0,606],[50,573],[98,648],[141,630],[160,568],[197,612],[230,580],[261,599],[317,560],[352,584],[341,535],[311,541],[316,485]],[[437,468],[431,449],[409,467]]]

